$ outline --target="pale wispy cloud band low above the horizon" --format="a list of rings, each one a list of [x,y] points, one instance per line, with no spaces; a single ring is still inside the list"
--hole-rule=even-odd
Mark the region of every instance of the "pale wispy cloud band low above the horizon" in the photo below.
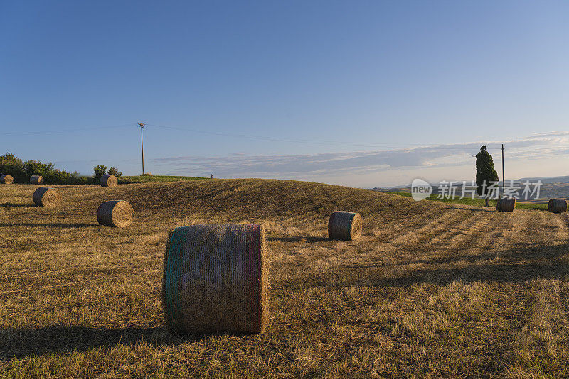
[[[511,160],[551,158],[569,155],[569,131],[535,134],[504,143]],[[472,142],[421,146],[397,150],[319,153],[307,155],[174,156],[157,158],[154,165],[171,174],[193,172],[218,177],[287,177],[315,179],[331,176],[364,175],[393,169],[471,165],[481,145],[498,158],[501,143]]]

